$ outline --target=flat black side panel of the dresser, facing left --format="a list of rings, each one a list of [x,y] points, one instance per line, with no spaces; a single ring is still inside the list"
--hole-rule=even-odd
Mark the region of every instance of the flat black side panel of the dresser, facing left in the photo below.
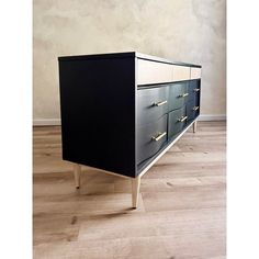
[[[135,177],[135,60],[59,60],[63,158]]]

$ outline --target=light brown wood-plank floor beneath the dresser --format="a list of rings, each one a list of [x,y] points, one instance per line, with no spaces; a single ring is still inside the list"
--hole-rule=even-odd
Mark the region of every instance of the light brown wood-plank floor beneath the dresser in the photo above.
[[[225,258],[225,122],[199,122],[143,177],[134,211],[127,179],[83,167],[76,190],[60,127],[35,127],[34,258]]]

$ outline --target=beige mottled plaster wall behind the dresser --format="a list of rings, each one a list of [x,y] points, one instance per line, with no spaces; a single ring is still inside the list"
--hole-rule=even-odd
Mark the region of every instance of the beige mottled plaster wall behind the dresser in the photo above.
[[[126,50],[201,64],[201,112],[225,114],[225,0],[34,0],[34,120],[60,116],[58,56]]]

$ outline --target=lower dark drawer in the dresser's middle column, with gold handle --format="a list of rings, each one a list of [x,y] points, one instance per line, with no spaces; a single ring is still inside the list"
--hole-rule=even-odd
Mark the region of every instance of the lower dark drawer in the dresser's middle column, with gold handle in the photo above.
[[[168,114],[168,138],[181,132],[187,122],[185,105]]]

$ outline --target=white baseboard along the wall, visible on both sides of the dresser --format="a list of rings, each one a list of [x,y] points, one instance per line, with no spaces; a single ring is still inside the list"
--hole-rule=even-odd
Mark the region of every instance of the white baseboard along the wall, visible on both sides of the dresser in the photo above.
[[[200,122],[206,121],[226,121],[226,115],[224,114],[204,114],[200,115],[198,119]],[[33,126],[53,126],[53,125],[60,125],[60,119],[35,119],[33,120]]]

